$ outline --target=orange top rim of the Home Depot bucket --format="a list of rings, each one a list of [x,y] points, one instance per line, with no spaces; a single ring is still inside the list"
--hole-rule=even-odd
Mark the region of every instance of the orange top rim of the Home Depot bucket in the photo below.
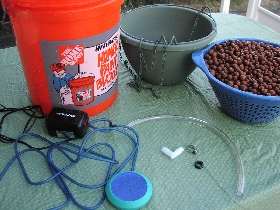
[[[26,9],[71,9],[87,6],[99,6],[113,1],[116,0],[3,0],[3,4],[6,8],[16,6]]]

